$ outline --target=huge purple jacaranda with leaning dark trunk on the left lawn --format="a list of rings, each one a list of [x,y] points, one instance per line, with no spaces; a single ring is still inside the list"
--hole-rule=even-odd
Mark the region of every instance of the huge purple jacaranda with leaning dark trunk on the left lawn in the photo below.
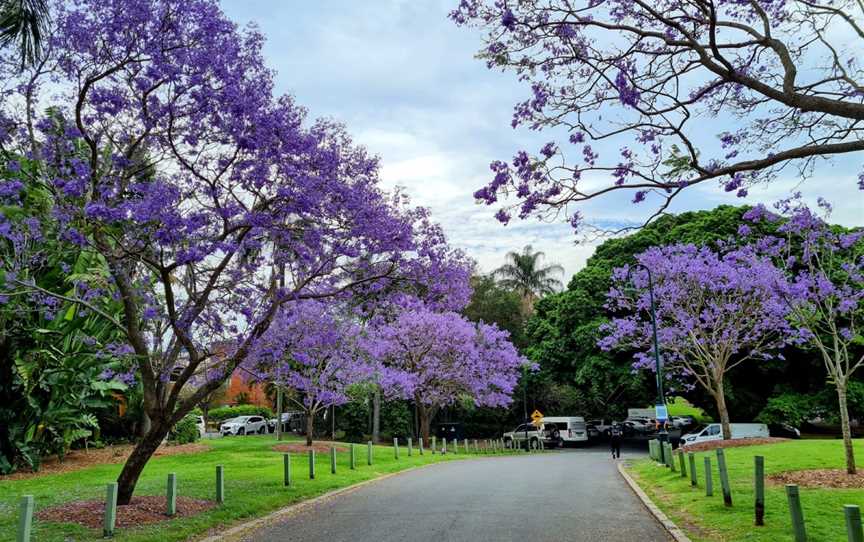
[[[451,270],[467,277],[342,127],[273,95],[262,36],[215,0],[57,1],[52,25],[38,65],[0,61],[0,145],[44,164],[32,182],[52,196],[53,230],[104,259],[123,305],[117,318],[73,297],[122,332],[143,387],[150,427],[120,504],[283,306],[394,282],[449,295]],[[6,271],[13,294],[56,295]]]

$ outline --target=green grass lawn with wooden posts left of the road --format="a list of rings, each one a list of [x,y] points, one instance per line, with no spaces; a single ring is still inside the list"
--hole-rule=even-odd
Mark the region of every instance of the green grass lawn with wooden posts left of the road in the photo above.
[[[373,465],[366,464],[366,446],[357,447],[357,470],[350,470],[348,452],[339,453],[336,475],[330,473],[329,454],[316,454],[316,477],[309,480],[308,456],[292,455],[293,487],[282,482],[282,453],[271,448],[272,435],[232,437],[204,441],[207,452],[157,457],[141,475],[136,495],[164,495],[168,473],[177,473],[178,494],[215,499],[216,465],[225,468],[225,504],[196,517],[178,518],[135,529],[118,530],[123,541],[186,540],[209,529],[228,526],[262,516],[285,505],[352,485],[383,474],[427,463],[468,457],[460,447],[457,454],[423,456],[415,448],[412,457],[400,447],[400,459],[393,448],[376,446]],[[72,500],[104,499],[105,485],[113,482],[122,465],[99,465],[65,474],[26,480],[0,480],[0,541],[15,540],[18,504],[22,495],[33,495],[36,510]],[[34,518],[32,540],[38,542],[98,540],[102,533],[72,524],[40,522]]]

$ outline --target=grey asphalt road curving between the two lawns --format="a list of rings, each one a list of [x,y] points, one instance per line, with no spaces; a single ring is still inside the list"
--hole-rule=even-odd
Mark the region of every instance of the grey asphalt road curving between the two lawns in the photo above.
[[[626,455],[626,453],[625,453]],[[605,448],[454,461],[302,508],[261,542],[653,542],[670,538]]]

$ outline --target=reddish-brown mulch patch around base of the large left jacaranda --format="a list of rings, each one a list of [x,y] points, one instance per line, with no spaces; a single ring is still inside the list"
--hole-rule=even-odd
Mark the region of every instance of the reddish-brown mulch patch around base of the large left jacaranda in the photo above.
[[[194,516],[215,506],[213,501],[177,497],[177,514],[174,517]],[[73,501],[36,513],[36,518],[41,521],[77,523],[91,529],[101,529],[104,516],[105,501]],[[173,518],[165,515],[164,496],[142,495],[132,497],[132,502],[126,506],[117,507],[116,526],[118,529],[126,529],[170,519]]]

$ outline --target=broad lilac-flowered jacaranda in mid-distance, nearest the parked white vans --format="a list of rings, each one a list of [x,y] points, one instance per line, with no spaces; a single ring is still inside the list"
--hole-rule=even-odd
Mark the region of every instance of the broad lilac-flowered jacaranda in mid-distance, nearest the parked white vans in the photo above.
[[[364,342],[370,358],[381,365],[385,393],[415,402],[425,441],[441,407],[463,400],[477,406],[509,405],[526,363],[506,331],[416,305],[379,323]]]

